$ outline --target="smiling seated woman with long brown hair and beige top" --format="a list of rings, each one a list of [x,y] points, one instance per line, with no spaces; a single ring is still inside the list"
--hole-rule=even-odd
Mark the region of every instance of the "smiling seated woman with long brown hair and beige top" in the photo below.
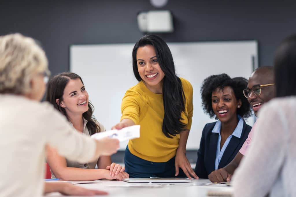
[[[80,76],[64,72],[49,81],[46,100],[59,110],[73,127],[86,136],[105,131],[104,126],[93,117],[94,107]],[[52,178],[62,180],[97,180],[128,178],[124,167],[112,163],[110,156],[101,156],[93,162],[80,163],[62,157],[49,147],[47,162]],[[98,169],[94,169],[98,166]]]

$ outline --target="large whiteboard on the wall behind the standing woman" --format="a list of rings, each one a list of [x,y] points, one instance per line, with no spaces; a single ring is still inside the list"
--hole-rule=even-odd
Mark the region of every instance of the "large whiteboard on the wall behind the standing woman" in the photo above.
[[[120,121],[121,100],[138,82],[133,75],[132,49],[129,44],[71,45],[70,71],[82,77],[94,116],[107,130]],[[256,41],[168,43],[176,72],[193,86],[193,118],[186,149],[198,149],[202,129],[213,122],[201,107],[200,87],[210,75],[226,73],[230,77],[249,78],[258,67]],[[254,116],[246,121],[253,125]],[[125,149],[127,142],[120,144]]]

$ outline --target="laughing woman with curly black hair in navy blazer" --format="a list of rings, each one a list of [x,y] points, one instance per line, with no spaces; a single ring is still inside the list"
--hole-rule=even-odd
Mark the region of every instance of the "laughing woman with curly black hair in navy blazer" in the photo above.
[[[243,95],[247,79],[231,79],[227,74],[207,77],[201,87],[205,113],[217,122],[207,123],[202,131],[197,152],[195,173],[199,178],[226,166],[235,157],[247,139],[251,126],[244,118],[252,115],[251,106]]]

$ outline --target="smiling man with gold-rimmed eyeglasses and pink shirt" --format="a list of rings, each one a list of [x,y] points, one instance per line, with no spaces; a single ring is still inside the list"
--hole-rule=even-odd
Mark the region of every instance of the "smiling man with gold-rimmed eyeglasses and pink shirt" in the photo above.
[[[262,66],[256,69],[248,80],[247,88],[244,89],[244,96],[247,97],[257,116],[262,105],[275,97],[274,68],[272,66]],[[227,166],[210,173],[210,181],[219,183],[231,180],[231,176],[239,166],[243,156],[247,154],[247,149],[252,142],[254,134],[253,128],[234,159]]]

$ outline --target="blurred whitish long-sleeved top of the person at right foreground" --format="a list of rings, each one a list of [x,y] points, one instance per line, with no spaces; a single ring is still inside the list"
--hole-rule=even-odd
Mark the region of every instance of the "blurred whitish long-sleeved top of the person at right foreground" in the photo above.
[[[260,109],[252,144],[234,173],[234,196],[296,196],[295,117],[295,96]]]

